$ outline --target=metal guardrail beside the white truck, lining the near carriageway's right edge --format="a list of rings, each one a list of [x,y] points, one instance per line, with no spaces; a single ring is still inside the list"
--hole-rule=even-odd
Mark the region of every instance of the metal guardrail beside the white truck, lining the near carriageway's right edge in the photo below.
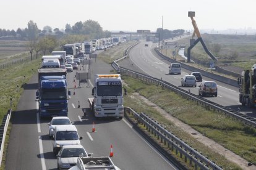
[[[161,143],[167,145],[168,149],[171,149],[176,155],[179,154],[180,158],[184,158],[184,161],[187,163],[189,160],[189,165],[192,166],[192,163],[195,165],[195,169],[222,169],[221,166],[215,164],[214,161],[208,160],[207,156],[203,156],[201,153],[198,153],[197,150],[187,145],[181,139],[177,138],[164,129],[161,124],[157,121],[148,117],[145,113],[136,113],[132,108],[125,107],[124,108],[126,114],[132,114],[132,117],[145,127],[148,132],[151,132]]]

